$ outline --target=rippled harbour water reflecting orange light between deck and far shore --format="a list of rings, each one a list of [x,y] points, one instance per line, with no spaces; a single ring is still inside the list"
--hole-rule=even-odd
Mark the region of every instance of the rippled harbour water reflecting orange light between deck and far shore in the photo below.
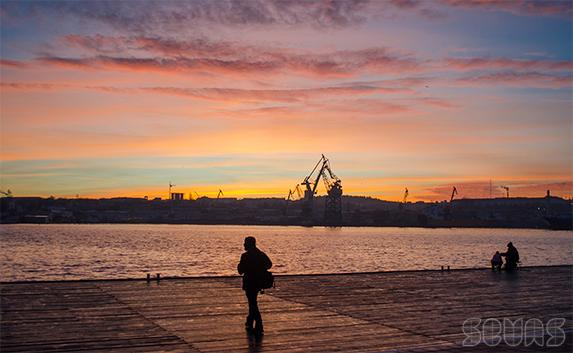
[[[524,265],[573,264],[573,233],[516,229],[3,225],[3,281],[235,274],[254,235],[275,273],[484,267],[513,241]]]

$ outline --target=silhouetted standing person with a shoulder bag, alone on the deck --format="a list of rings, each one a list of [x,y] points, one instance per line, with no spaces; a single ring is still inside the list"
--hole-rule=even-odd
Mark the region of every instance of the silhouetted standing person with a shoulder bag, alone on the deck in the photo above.
[[[260,284],[262,275],[273,266],[273,263],[264,252],[257,248],[255,237],[246,237],[244,246],[245,252],[241,255],[237,270],[243,275],[243,290],[249,302],[249,315],[247,315],[245,328],[249,333],[260,336],[263,334],[263,319],[259,311],[257,296],[262,289]],[[254,329],[253,323],[255,323]]]

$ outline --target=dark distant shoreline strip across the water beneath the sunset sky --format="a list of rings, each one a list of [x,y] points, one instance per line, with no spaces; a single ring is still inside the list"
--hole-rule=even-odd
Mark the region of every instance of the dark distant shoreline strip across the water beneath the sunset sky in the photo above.
[[[572,201],[560,197],[392,202],[342,196],[341,211],[327,222],[326,199],[199,198],[55,199],[0,198],[0,223],[197,224],[573,230]]]

